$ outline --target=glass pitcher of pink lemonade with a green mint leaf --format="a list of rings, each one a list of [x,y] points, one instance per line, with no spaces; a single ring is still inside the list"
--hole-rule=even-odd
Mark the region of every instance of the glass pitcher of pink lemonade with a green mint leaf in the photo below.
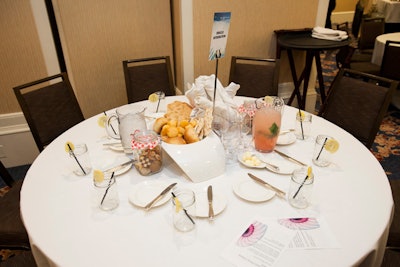
[[[257,110],[253,118],[253,138],[256,150],[274,150],[281,129],[285,103],[280,97],[266,96],[256,100]]]

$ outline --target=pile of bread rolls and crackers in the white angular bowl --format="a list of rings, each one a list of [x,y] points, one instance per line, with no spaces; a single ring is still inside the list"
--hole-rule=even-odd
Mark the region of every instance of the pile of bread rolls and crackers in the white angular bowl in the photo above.
[[[174,101],[167,105],[163,117],[157,118],[153,130],[168,144],[196,143],[211,132],[212,109],[193,108],[186,102]]]

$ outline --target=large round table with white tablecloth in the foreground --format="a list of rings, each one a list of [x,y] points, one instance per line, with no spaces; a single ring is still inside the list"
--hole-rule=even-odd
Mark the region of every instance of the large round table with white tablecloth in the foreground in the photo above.
[[[185,101],[186,97],[166,98],[167,102],[174,100]],[[235,97],[235,101],[240,104],[243,98]],[[295,113],[295,108],[285,107],[282,129],[294,128]],[[105,130],[98,126],[100,116],[85,120],[54,140],[25,177],[21,215],[39,266],[234,266],[221,257],[222,251],[251,220],[310,215],[325,219],[339,246],[288,248],[274,266],[380,266],[393,214],[387,176],[368,149],[330,122],[313,116],[309,140],[278,147],[313,167],[313,200],[307,209],[292,208],[276,196],[259,203],[245,201],[232,190],[238,181],[249,179],[247,173],[251,172],[287,192],[289,175],[234,163],[226,166],[223,175],[193,183],[166,156],[163,170],[157,174],[141,176],[132,168],[119,175],[120,205],[105,212],[91,202],[92,173],[74,176],[66,167],[64,150],[66,141],[86,143],[94,168],[100,158],[121,157],[122,152],[102,146]],[[311,161],[318,134],[329,134],[340,143],[333,164],[325,168]],[[132,188],[145,181],[177,181],[177,186],[197,193],[212,185],[215,195],[223,196],[227,204],[213,222],[196,218],[194,231],[178,233],[172,225],[170,202],[146,212],[128,201]]]

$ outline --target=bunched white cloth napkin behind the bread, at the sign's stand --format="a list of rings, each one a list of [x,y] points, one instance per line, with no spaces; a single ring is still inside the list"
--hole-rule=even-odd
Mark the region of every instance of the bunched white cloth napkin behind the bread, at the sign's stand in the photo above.
[[[213,107],[214,82],[215,75],[212,74],[210,76],[199,76],[193,84],[187,84],[185,95],[193,107],[202,109]],[[214,115],[227,117],[237,112],[237,105],[234,103],[233,97],[239,87],[235,83],[230,83],[227,87],[223,87],[217,79]]]

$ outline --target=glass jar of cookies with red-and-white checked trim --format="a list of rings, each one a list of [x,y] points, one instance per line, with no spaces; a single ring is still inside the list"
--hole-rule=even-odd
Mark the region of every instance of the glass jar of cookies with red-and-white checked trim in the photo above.
[[[157,173],[162,168],[161,139],[153,131],[136,131],[132,139],[135,168],[141,175]]]

